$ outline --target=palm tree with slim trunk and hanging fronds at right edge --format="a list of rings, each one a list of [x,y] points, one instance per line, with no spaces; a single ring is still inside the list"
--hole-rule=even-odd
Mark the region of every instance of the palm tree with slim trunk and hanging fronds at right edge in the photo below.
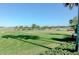
[[[78,25],[77,25],[77,37],[76,37],[76,51],[79,52],[79,4],[78,3],[65,3],[66,7],[72,9],[74,6],[78,6]]]

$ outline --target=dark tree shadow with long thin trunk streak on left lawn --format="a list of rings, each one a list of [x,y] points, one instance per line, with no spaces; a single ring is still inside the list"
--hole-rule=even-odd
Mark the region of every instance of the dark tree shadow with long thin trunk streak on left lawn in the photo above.
[[[43,47],[43,48],[47,48],[47,49],[52,49],[50,47],[47,47],[47,46],[44,46],[44,45],[41,45],[41,44],[37,44],[35,42],[30,42],[30,41],[27,41],[28,39],[32,39],[32,40],[37,40],[37,39],[40,39],[39,36],[33,36],[33,35],[4,35],[2,36],[2,38],[13,38],[13,39],[16,39],[16,40],[20,40],[20,41],[23,41],[23,42],[26,42],[26,43],[30,43],[30,44],[33,44],[33,45],[37,45],[37,46],[40,46],[40,47]]]

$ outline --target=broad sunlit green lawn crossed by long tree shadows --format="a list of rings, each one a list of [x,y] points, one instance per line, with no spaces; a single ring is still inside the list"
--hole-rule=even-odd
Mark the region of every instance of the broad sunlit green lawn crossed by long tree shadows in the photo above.
[[[71,35],[67,31],[53,30],[0,30],[0,54],[2,55],[38,55],[66,42],[63,39]]]

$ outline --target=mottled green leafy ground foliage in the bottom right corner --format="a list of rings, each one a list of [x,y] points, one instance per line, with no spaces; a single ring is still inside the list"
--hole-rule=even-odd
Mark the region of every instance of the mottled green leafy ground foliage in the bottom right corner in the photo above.
[[[44,53],[40,53],[41,55],[79,55],[79,52],[76,52],[73,48],[75,46],[74,43],[66,43],[62,44],[56,48],[51,50],[47,50]]]

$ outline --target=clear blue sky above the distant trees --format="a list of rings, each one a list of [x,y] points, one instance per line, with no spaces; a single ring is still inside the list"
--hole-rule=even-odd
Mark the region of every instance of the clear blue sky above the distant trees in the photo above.
[[[78,15],[62,3],[0,3],[0,26],[69,26]]]

